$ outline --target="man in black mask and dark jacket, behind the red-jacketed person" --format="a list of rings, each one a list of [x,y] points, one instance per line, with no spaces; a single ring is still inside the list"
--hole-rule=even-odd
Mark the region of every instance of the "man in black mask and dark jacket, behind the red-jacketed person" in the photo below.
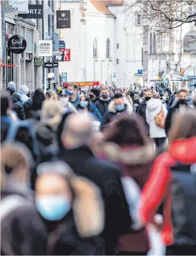
[[[169,108],[167,118],[165,120],[166,134],[168,134],[168,132],[171,128],[172,119],[173,119],[173,115],[175,114],[175,112],[186,112],[186,110],[188,108],[190,108],[190,106],[188,106],[188,104],[186,103],[186,100],[188,99],[188,94],[187,94],[186,90],[184,90],[184,89],[179,90],[177,92],[177,98],[178,98],[178,102],[175,104],[175,106]]]

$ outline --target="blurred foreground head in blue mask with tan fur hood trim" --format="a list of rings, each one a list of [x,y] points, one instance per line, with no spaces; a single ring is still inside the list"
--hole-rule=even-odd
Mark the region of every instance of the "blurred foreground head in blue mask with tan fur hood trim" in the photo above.
[[[36,207],[43,219],[60,221],[73,210],[80,236],[102,232],[103,202],[95,184],[76,176],[64,162],[41,163],[37,174]]]

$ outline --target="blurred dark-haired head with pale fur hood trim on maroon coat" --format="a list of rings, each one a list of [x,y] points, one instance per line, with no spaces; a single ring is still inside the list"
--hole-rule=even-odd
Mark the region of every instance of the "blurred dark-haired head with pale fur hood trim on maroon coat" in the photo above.
[[[140,116],[117,118],[104,130],[103,152],[108,159],[125,165],[146,165],[155,157],[154,145],[146,135]]]

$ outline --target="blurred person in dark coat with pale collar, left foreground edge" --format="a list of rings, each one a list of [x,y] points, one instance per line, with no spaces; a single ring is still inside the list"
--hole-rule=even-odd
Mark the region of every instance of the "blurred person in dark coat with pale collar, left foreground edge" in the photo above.
[[[46,255],[44,226],[28,187],[31,163],[31,152],[24,144],[2,145],[1,255]]]

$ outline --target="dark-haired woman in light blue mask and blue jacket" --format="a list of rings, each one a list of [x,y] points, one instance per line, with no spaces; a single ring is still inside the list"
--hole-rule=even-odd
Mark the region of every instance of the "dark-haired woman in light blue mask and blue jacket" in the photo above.
[[[77,106],[77,110],[89,111],[97,118],[97,120],[99,120],[100,122],[102,121],[102,116],[98,111],[96,105],[90,102],[89,95],[82,95],[80,97],[80,102]]]

